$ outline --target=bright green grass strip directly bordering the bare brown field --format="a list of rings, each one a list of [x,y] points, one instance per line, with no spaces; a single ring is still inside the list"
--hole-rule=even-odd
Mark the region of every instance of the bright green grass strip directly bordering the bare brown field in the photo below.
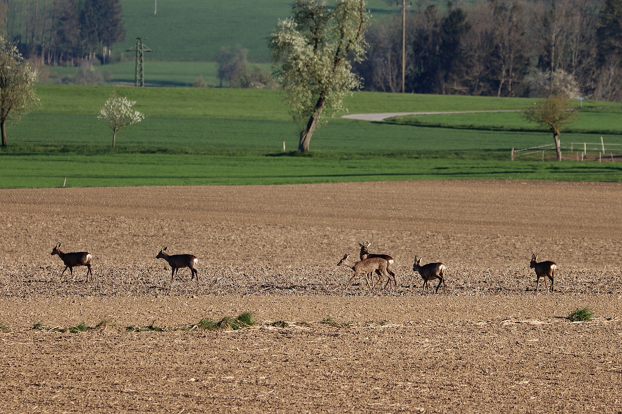
[[[622,182],[618,163],[261,157],[219,155],[48,155],[2,157],[2,188],[277,185],[394,180],[552,180]]]

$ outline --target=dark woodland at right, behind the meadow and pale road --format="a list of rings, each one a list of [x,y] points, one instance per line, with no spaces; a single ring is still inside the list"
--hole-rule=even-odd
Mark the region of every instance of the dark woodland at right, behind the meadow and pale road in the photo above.
[[[622,0],[449,1],[443,9],[419,1],[407,9],[405,36],[406,92],[530,96],[556,77],[584,96],[622,101]],[[401,91],[402,16],[373,22],[366,40],[366,60],[355,66],[364,89]]]

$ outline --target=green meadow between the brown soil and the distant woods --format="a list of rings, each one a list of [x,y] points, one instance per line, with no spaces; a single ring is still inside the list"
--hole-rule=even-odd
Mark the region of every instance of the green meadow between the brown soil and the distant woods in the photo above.
[[[96,114],[111,91],[146,114],[112,132]],[[622,181],[617,162],[509,160],[512,147],[552,141],[520,128],[520,113],[435,116],[427,126],[336,117],[317,129],[312,154],[295,155],[300,126],[276,90],[37,87],[40,107],[7,124],[1,188],[62,186],[251,185],[372,180],[511,179]],[[351,113],[522,109],[529,99],[356,93]],[[584,101],[577,131],[562,140],[622,144],[622,105]],[[502,116],[503,114],[503,116]],[[600,115],[599,115],[600,114]],[[617,115],[616,115],[617,114]],[[599,116],[601,122],[599,122]],[[616,118],[617,116],[617,118]],[[455,121],[448,121],[452,119]],[[425,118],[427,119],[427,118]],[[466,125],[465,119],[471,124]],[[511,131],[499,131],[504,124]],[[595,131],[596,129],[596,131]],[[283,144],[285,142],[285,152]],[[547,155],[552,159],[553,155]]]

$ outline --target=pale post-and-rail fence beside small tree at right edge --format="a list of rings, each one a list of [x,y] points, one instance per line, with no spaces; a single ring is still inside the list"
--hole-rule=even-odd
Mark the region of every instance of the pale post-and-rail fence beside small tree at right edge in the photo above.
[[[570,142],[570,145],[562,145],[560,142],[560,150],[562,155],[565,154],[566,159],[577,160],[598,160],[603,161],[611,160],[615,161],[616,158],[620,158],[622,153],[622,144],[605,144],[603,138],[600,138],[600,143],[590,142]],[[511,160],[514,161],[517,157],[524,157],[532,154],[542,154],[542,161],[544,161],[545,153],[547,151],[555,151],[555,144],[539,145],[538,147],[524,148],[524,149],[512,149]],[[567,155],[570,152],[570,157]],[[557,154],[556,154],[557,155]]]

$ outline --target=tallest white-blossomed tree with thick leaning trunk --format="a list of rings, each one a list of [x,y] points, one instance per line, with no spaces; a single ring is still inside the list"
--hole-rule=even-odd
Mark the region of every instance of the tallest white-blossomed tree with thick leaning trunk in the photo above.
[[[315,127],[325,121],[322,111],[344,110],[343,98],[361,85],[351,60],[363,60],[369,12],[364,0],[337,0],[334,7],[326,0],[295,0],[292,14],[272,33],[270,49],[290,113],[296,121],[309,119],[298,145],[308,152]]]

